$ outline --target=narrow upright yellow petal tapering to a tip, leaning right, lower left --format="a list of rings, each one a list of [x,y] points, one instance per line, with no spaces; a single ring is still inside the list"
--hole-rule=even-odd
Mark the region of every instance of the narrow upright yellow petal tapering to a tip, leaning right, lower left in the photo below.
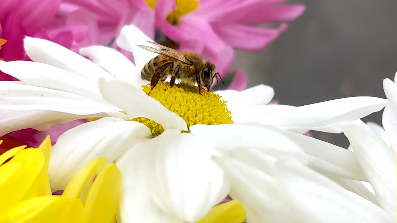
[[[106,158],[98,158],[91,163],[85,165],[80,169],[67,184],[62,196],[68,198],[80,198],[83,203],[87,198],[87,194],[91,185],[93,185],[93,180],[100,169],[105,165]]]

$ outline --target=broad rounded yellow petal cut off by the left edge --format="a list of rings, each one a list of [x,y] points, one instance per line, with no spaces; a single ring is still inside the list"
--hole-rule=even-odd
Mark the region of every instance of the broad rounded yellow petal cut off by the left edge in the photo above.
[[[40,150],[26,149],[0,166],[0,212],[29,197],[43,165],[44,156]]]

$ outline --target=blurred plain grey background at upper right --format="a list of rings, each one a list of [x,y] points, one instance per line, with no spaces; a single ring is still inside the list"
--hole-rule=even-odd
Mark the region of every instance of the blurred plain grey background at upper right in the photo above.
[[[248,87],[274,87],[280,104],[301,106],[347,96],[385,97],[397,71],[397,1],[290,0],[306,11],[262,52],[237,52]],[[381,123],[382,111],[363,121]],[[314,132],[347,148],[343,134]]]

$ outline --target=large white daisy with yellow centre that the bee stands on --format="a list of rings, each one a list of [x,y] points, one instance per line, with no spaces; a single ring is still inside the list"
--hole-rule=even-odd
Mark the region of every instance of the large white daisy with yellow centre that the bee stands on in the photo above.
[[[156,54],[136,46],[146,40],[134,26],[124,27],[117,40],[133,52],[137,67],[104,46],[81,50],[93,63],[58,44],[29,37],[25,50],[34,62],[0,63],[0,70],[22,80],[0,83],[0,113],[15,120],[12,110],[34,120],[5,121],[0,127],[42,130],[73,119],[103,117],[60,136],[49,170],[54,190],[64,188],[82,165],[106,156],[123,174],[122,221],[194,222],[229,192],[229,178],[211,159],[219,154],[242,151],[239,158],[244,160],[251,148],[272,159],[294,158],[324,173],[367,180],[352,152],[294,131],[341,132],[337,123],[379,111],[385,99],[265,105],[273,90],[259,85],[216,92],[227,100],[226,108],[216,94],[200,96],[197,88],[192,92],[186,85],[169,88],[161,82],[147,96],[148,87],[141,90],[147,82],[140,80],[139,71]]]

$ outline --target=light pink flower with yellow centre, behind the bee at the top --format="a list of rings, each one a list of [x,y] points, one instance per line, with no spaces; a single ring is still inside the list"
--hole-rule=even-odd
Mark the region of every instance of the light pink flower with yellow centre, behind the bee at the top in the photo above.
[[[61,11],[64,18],[72,17],[68,12],[81,11],[79,16],[73,15],[75,22],[81,24],[89,20],[87,17],[95,17],[96,22],[90,23],[90,33],[93,31],[92,39],[96,44],[107,44],[116,38],[125,24],[136,25],[152,39],[156,30],[160,29],[168,38],[179,43],[179,49],[190,49],[214,62],[224,77],[234,60],[233,48],[261,50],[287,28],[286,23],[281,23],[276,29],[260,28],[258,25],[292,21],[304,11],[303,5],[280,5],[283,2],[66,0],[62,3]],[[233,86],[245,86],[246,77],[242,74],[236,75]]]

